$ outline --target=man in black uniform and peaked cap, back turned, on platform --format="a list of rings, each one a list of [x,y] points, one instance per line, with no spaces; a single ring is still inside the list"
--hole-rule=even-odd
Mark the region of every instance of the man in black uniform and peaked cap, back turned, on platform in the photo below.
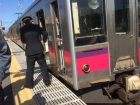
[[[30,16],[24,17],[22,21],[24,23],[24,26],[20,28],[20,37],[22,43],[26,44],[25,55],[27,61],[25,87],[33,88],[33,73],[35,61],[37,61],[40,66],[44,84],[46,86],[49,86],[51,84],[51,81],[49,79],[45,55],[43,53],[44,49],[40,41],[40,37],[42,34],[43,42],[45,43],[48,33],[38,25],[32,24],[32,18]]]

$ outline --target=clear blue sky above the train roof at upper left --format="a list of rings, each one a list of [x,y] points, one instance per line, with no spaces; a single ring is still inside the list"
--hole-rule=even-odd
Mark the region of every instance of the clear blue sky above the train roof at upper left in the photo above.
[[[0,20],[2,20],[3,27],[7,32],[9,27],[18,19],[18,14],[24,11],[35,0],[0,0]],[[20,17],[21,15],[19,15]],[[0,23],[1,26],[1,23]]]

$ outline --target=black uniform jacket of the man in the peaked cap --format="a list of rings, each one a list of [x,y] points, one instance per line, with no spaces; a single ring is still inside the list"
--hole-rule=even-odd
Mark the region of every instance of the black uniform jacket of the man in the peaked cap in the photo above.
[[[39,54],[44,51],[40,41],[41,34],[43,35],[43,41],[46,42],[48,33],[38,25],[27,24],[20,28],[21,41],[26,44],[26,56]]]

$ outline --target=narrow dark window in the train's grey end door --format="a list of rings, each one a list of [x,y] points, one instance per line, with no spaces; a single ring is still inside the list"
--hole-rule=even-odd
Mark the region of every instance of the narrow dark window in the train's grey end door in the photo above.
[[[130,6],[129,0],[114,0],[116,34],[130,32]]]

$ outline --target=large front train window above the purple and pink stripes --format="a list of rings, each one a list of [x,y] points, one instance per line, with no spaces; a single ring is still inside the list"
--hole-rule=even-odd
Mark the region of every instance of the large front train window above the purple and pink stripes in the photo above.
[[[71,0],[75,46],[107,41],[105,0]]]

